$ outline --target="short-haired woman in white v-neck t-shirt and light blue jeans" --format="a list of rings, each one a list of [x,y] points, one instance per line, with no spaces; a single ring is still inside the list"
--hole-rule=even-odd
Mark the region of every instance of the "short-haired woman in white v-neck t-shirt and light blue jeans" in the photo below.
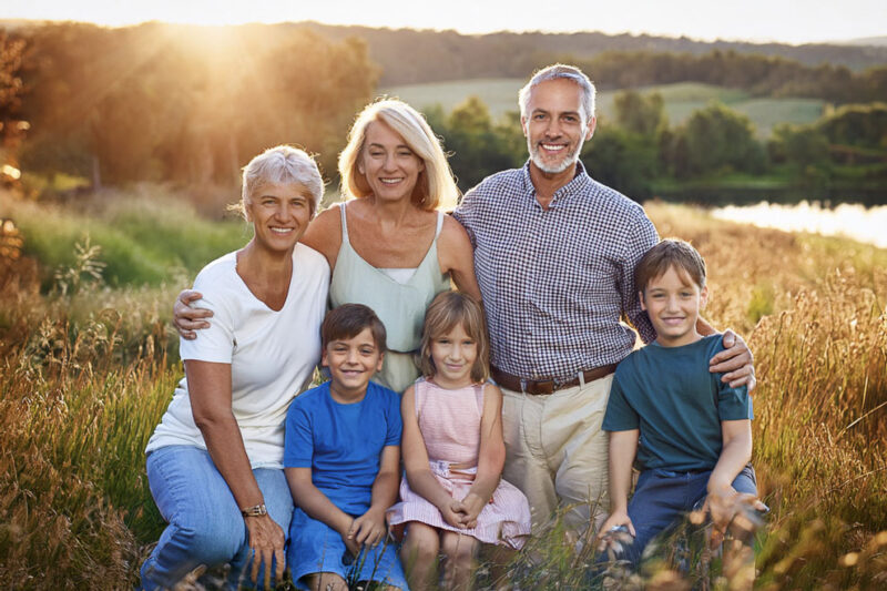
[[[214,314],[182,339],[185,378],[149,441],[147,478],[169,522],[142,565],[144,589],[172,588],[198,565],[230,563],[237,589],[277,581],[293,500],[283,471],[284,420],[320,358],[329,267],[297,244],[323,195],[302,150],[277,146],[243,173],[254,237],[201,271],[198,305]]]

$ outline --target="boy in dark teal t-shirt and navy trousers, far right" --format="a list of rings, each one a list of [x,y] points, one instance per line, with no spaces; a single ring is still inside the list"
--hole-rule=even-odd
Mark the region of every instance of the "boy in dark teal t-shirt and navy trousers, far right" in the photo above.
[[[708,297],[705,262],[690,244],[664,240],[638,263],[635,285],[656,340],[615,371],[603,420],[611,513],[600,530],[628,529],[634,540],[622,558],[634,565],[650,540],[703,498],[723,532],[741,495],[757,496],[748,463],[752,400],[745,386],[732,388],[708,371],[721,335],[696,330]],[[641,475],[629,502],[635,460]]]

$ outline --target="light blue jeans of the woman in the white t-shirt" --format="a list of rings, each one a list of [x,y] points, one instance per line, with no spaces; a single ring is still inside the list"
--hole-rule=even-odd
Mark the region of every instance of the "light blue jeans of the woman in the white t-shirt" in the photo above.
[[[293,497],[284,471],[253,470],[268,514],[289,533]],[[252,550],[241,509],[206,450],[166,446],[147,456],[151,495],[169,526],[142,564],[142,587],[172,588],[201,564],[231,564],[227,585],[237,589]],[[248,571],[244,579],[248,580]],[[259,569],[259,587],[262,587]]]

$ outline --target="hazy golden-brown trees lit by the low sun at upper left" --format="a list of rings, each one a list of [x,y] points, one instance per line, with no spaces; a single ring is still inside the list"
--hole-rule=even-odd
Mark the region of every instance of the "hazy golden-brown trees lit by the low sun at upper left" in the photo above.
[[[30,126],[21,165],[93,184],[235,184],[249,157],[290,142],[333,172],[378,77],[359,40],[261,26],[61,23],[17,42],[27,49],[12,106]]]

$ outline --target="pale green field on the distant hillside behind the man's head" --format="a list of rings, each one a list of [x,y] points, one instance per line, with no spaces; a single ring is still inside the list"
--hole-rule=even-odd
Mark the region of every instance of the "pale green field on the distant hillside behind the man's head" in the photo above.
[[[493,118],[517,111],[518,91],[523,79],[457,80],[429,84],[410,84],[383,89],[380,92],[399,96],[418,109],[440,104],[450,111],[468,96],[480,96],[490,108]],[[812,123],[819,119],[824,102],[815,99],[756,99],[741,90],[710,84],[682,82],[661,86],[645,86],[641,92],[659,92],[665,100],[665,114],[671,124],[677,124],[693,111],[711,101],[721,101],[731,109],[748,115],[762,137],[769,135],[776,123]],[[612,114],[615,91],[598,94],[598,109],[603,118]]]

